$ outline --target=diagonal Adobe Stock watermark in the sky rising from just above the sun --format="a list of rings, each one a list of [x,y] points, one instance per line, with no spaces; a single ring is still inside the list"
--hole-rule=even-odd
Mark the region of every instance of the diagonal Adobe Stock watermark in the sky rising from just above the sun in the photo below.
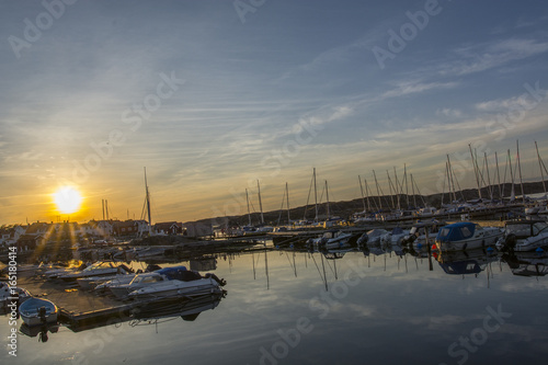
[[[179,87],[185,83],[184,79],[175,77],[174,71],[171,71],[170,76],[160,73],[160,79],[155,93],[147,94],[141,103],[134,103],[122,112],[121,122],[129,127],[129,130],[112,129],[104,140],[90,142],[89,146],[93,152],[88,153],[83,161],[72,160],[72,183],[82,184],[90,179],[91,173],[98,171],[103,161],[113,156],[114,148],[122,147],[127,137],[137,132],[142,122],[149,121],[152,113],[162,106],[162,101],[170,99],[179,90]]]

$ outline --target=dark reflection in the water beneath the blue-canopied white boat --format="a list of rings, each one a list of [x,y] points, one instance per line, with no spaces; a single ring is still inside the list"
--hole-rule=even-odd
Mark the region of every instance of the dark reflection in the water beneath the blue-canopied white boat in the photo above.
[[[499,260],[495,254],[489,254],[482,249],[468,251],[442,251],[436,258],[439,266],[449,275],[479,274],[490,262]]]

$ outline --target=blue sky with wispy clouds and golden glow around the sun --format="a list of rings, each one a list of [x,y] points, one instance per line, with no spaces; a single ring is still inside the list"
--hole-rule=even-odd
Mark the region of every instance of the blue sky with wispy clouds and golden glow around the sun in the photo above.
[[[157,223],[548,160],[545,1],[2,0],[0,34],[0,225],[139,219],[145,167]]]

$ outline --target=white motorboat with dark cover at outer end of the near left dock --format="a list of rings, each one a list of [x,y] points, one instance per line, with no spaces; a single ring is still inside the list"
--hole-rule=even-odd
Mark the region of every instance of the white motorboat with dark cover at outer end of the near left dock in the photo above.
[[[163,269],[165,270],[165,269]],[[162,281],[150,286],[141,287],[128,294],[129,298],[169,298],[178,296],[199,296],[204,294],[221,293],[226,282],[215,274],[205,276],[194,271],[181,270],[176,278]]]

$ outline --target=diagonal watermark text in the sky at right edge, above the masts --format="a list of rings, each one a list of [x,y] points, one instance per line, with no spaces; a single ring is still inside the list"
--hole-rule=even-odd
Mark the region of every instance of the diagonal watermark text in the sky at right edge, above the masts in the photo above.
[[[498,114],[495,121],[486,125],[486,132],[495,134],[498,141],[506,137],[507,130],[514,129],[525,118],[527,112],[536,109],[548,96],[548,90],[540,89],[539,81],[535,82],[534,87],[528,82],[525,82],[523,87],[527,93],[511,103],[505,113]]]

